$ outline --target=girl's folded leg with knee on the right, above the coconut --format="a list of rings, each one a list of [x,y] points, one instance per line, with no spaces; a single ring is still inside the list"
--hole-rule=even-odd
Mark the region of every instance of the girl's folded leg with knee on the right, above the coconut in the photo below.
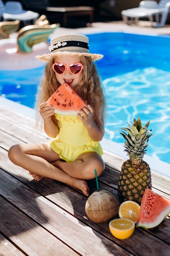
[[[72,177],[85,180],[95,178],[95,169],[97,171],[97,176],[100,176],[105,168],[103,159],[94,152],[79,155],[73,162],[62,162],[59,160],[51,164],[60,168]]]

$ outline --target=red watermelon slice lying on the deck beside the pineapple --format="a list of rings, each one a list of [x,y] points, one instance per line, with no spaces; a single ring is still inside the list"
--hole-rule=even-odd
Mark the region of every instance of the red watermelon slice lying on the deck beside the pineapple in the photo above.
[[[145,189],[136,226],[151,229],[159,225],[169,213],[170,201],[150,189]]]

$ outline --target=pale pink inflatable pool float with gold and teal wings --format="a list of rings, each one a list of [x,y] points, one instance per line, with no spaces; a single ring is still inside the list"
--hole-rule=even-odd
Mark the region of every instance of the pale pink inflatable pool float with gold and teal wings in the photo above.
[[[12,22],[5,23],[7,28]],[[3,30],[7,31],[5,25]],[[16,27],[16,24],[13,25]],[[0,56],[5,60],[0,61],[0,70],[26,70],[44,66],[44,63],[35,59],[35,55],[49,53],[47,39],[59,26],[59,23],[49,25],[46,16],[42,15],[34,25],[20,29],[17,38],[0,40]]]

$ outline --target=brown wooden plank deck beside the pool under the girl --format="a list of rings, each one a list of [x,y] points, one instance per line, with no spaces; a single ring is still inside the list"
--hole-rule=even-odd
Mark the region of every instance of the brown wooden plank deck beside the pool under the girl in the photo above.
[[[118,240],[108,223],[96,224],[85,212],[87,198],[72,187],[47,178],[36,182],[8,159],[13,144],[45,142],[34,131],[35,121],[0,106],[0,256],[169,256],[170,219],[149,230],[136,228]],[[124,159],[104,152],[106,170],[100,189],[117,197]],[[88,182],[91,193],[95,180]],[[153,191],[170,200],[170,178],[152,171]]]

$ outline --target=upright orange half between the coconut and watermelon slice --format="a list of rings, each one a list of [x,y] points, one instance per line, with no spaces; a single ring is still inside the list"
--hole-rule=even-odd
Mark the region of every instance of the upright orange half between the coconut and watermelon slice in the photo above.
[[[140,205],[133,201],[125,201],[119,207],[119,218],[125,218],[137,223]]]

